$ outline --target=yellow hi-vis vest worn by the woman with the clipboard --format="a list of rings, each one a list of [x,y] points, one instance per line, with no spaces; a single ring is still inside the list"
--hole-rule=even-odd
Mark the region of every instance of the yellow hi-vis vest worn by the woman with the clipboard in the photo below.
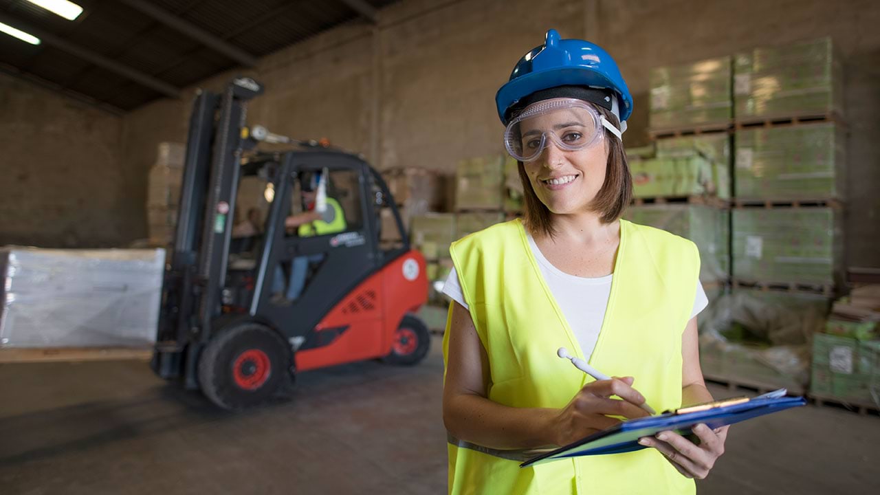
[[[522,408],[564,408],[593,379],[556,356],[560,347],[609,376],[634,376],[654,410],[681,405],[681,337],[693,311],[700,255],[690,240],[620,220],[611,295],[591,356],[535,261],[523,224],[494,225],[453,243],[452,262],[488,354],[488,398]],[[454,304],[454,303],[453,303]],[[451,311],[450,311],[451,316]],[[444,366],[449,349],[444,337]],[[547,462],[521,469],[503,451],[450,437],[449,492],[595,495],[695,492],[656,449]]]

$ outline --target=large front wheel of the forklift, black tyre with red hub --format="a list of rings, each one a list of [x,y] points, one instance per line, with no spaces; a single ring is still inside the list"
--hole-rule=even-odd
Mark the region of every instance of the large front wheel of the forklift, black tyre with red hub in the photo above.
[[[244,409],[265,402],[290,378],[284,340],[259,323],[244,322],[211,339],[199,358],[199,384],[212,403]]]

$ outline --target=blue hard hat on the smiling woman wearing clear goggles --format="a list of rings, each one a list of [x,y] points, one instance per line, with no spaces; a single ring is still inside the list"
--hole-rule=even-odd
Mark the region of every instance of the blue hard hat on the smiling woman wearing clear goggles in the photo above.
[[[559,33],[551,29],[543,45],[532,48],[519,59],[510,73],[510,81],[495,94],[501,122],[508,122],[508,111],[519,100],[557,86],[611,90],[617,95],[620,122],[633,113],[633,97],[611,55],[590,41],[561,40]]]

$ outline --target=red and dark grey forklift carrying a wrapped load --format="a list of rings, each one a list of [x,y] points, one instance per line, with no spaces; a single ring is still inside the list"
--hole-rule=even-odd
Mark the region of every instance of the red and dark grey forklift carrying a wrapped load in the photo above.
[[[354,154],[248,127],[247,102],[262,92],[253,79],[235,78],[223,93],[194,100],[150,361],[161,378],[226,410],[290,396],[298,372],[371,358],[414,365],[430,345],[415,315],[428,300],[425,259],[410,247],[385,181]],[[302,236],[285,227],[305,177],[320,177],[338,196],[341,232]],[[265,181],[268,203],[249,258],[232,238],[247,178]],[[380,242],[383,208],[400,237],[392,245]],[[297,257],[310,260],[304,290],[279,303],[275,278]]]

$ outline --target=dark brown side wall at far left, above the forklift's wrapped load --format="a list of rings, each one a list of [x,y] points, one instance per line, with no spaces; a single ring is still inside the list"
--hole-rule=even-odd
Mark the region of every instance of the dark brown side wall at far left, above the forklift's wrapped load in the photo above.
[[[0,246],[103,247],[129,239],[121,117],[0,73]],[[143,228],[143,227],[141,227]]]

